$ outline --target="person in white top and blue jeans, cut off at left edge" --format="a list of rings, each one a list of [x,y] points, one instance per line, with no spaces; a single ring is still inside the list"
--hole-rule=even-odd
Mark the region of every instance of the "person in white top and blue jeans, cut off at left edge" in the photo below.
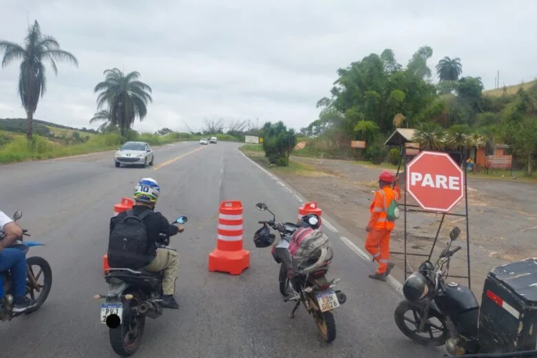
[[[8,215],[0,211],[0,273],[11,269],[14,304],[12,312],[20,313],[34,305],[26,297],[26,255],[21,249],[10,247],[22,238],[22,229]],[[3,236],[3,238],[2,238]],[[0,306],[3,304],[3,280],[0,275]]]

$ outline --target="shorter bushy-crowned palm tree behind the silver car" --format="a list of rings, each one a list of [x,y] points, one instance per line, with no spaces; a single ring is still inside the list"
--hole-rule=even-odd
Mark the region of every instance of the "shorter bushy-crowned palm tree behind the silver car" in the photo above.
[[[109,122],[118,125],[121,135],[125,136],[136,117],[140,118],[141,122],[147,116],[147,104],[153,102],[149,95],[151,87],[138,81],[140,73],[136,71],[125,76],[123,72],[113,68],[105,70],[104,74],[105,81],[94,88],[95,93],[100,92],[97,109],[107,104]]]

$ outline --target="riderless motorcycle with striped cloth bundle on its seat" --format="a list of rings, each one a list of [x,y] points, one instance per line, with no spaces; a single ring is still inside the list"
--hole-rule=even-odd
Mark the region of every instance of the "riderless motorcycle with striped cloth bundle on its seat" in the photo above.
[[[259,211],[268,211],[273,215],[273,220],[259,221],[264,227],[271,227],[280,234],[280,240],[272,245],[271,253],[275,262],[280,264],[280,293],[284,296],[284,302],[296,302],[291,318],[295,317],[295,312],[302,304],[308,313],[313,317],[317,329],[322,335],[322,339],[328,343],[334,341],[336,337],[335,319],[333,310],[346,302],[346,295],[340,290],[335,290],[335,285],[339,279],[328,281],[326,273],[332,261],[333,251],[328,246],[328,254],[320,266],[315,266],[313,270],[304,271],[303,267],[315,264],[319,259],[319,251],[303,262],[296,262],[288,250],[293,238],[293,233],[300,226],[292,222],[278,223],[275,214],[268,209],[266,204],[257,203],[255,208]],[[317,222],[310,226],[317,224]],[[288,272],[293,272],[291,279]]]

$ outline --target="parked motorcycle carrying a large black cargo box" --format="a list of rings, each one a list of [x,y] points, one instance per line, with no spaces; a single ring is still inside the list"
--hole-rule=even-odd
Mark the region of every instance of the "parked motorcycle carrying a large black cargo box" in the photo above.
[[[405,300],[399,303],[394,318],[401,332],[423,346],[442,346],[452,356],[462,357],[537,357],[534,320],[537,317],[537,259],[527,259],[498,266],[489,273],[479,306],[474,293],[456,282],[445,283],[451,257],[461,249],[450,249],[460,235],[455,227],[450,242],[436,264],[425,260],[403,285]],[[412,299],[409,280],[425,278],[425,288],[419,300]],[[415,281],[414,281],[415,282]],[[413,286],[414,287],[414,286]],[[509,302],[509,304],[507,303]],[[415,322],[404,317],[409,310]],[[439,320],[439,325],[430,322]],[[410,321],[416,330],[406,326]],[[432,328],[441,332],[433,337]],[[429,333],[422,337],[419,333]]]

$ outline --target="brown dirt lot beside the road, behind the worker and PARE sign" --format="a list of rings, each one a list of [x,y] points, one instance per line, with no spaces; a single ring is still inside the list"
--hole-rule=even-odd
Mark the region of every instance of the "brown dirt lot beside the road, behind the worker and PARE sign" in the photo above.
[[[292,157],[297,165],[310,167],[304,171],[275,170],[278,176],[302,193],[308,200],[314,200],[339,224],[358,238],[365,239],[364,227],[368,221],[368,208],[372,191],[378,188],[377,177],[383,169],[378,166],[357,165],[348,160]],[[315,174],[312,174],[315,173]],[[321,174],[321,173],[324,173]],[[503,187],[498,187],[503,185]],[[468,207],[470,213],[470,263],[472,291],[481,301],[483,282],[494,266],[506,264],[525,257],[537,256],[535,237],[537,233],[537,187],[523,187],[523,183],[469,182]],[[408,203],[415,203],[407,198]],[[461,202],[455,213],[464,213]],[[432,243],[442,215],[434,213],[408,213],[407,270],[417,268],[431,254]],[[443,227],[432,252],[436,260],[449,241],[450,230],[458,226],[461,236],[455,242],[462,246],[450,265],[450,275],[467,276],[467,238],[465,218],[445,216]],[[363,242],[357,242],[359,246]],[[391,260],[404,268],[403,220],[397,222],[390,243]],[[396,273],[403,281],[403,271]],[[467,284],[467,279],[452,277],[452,280]]]

